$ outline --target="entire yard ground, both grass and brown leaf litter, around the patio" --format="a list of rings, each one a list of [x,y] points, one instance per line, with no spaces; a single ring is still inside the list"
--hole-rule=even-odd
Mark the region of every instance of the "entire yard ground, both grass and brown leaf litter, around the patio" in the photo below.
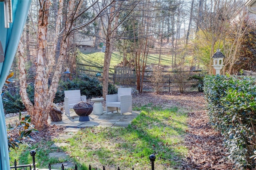
[[[155,154],[156,170],[232,170],[220,134],[208,124],[202,93],[134,94],[132,102],[133,110],[141,113],[128,127],[88,127],[68,134],[64,127],[53,126],[35,134],[31,148],[12,150],[11,165],[14,159],[31,163],[29,152],[35,149],[37,168],[72,162],[81,170],[89,164],[94,169],[150,170],[149,155]],[[52,147],[54,143],[62,146]],[[51,152],[68,156],[49,158]]]

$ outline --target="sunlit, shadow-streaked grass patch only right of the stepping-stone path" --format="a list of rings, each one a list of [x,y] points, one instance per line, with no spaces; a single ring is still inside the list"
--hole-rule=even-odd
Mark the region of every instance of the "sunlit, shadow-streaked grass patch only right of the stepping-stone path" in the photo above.
[[[85,128],[69,142],[73,146],[83,143],[81,151],[74,152],[83,157],[83,162],[94,167],[150,168],[149,155],[155,154],[158,169],[177,169],[180,166],[177,160],[186,152],[182,147],[185,122],[184,114],[168,109],[150,113],[142,111],[126,128]],[[76,164],[81,162],[74,161]]]

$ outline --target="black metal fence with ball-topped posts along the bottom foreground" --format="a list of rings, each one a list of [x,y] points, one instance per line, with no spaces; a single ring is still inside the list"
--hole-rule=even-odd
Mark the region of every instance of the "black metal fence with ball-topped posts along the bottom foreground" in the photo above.
[[[35,156],[36,156],[36,150],[31,150],[30,151],[30,155],[32,156],[32,164],[26,164],[26,165],[17,165],[16,160],[14,161],[14,166],[11,166],[10,169],[15,169],[18,170],[20,168],[29,168],[29,170],[53,170],[50,163],[48,165],[48,169],[38,169],[36,168],[36,160],[35,160]],[[151,162],[151,170],[154,170],[154,161],[156,160],[156,156],[154,154],[151,154],[149,156],[150,162]],[[61,166],[61,170],[64,170],[65,167],[62,164]],[[75,169],[74,170],[78,170],[77,165],[75,165]],[[92,166],[89,165],[89,170],[92,170]],[[103,166],[103,170],[106,170],[105,166]],[[117,170],[120,170],[120,168],[118,167]],[[134,170],[134,168],[132,168],[132,170]]]

